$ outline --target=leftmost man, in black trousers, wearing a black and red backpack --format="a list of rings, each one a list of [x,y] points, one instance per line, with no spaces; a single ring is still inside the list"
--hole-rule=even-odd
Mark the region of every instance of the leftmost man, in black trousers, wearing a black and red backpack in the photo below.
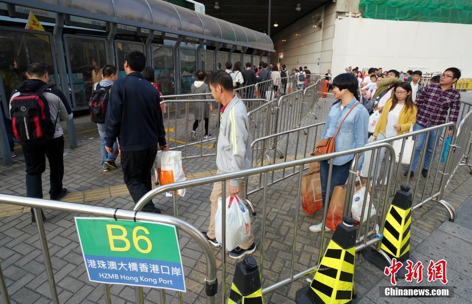
[[[64,94],[49,83],[48,67],[31,63],[23,81],[10,98],[13,135],[21,142],[26,166],[26,196],[43,198],[41,175],[50,167],[52,200],[67,194],[62,188],[64,175],[64,137],[61,120],[72,119],[72,109]],[[41,211],[43,220],[44,213]],[[36,222],[31,209],[31,221]]]

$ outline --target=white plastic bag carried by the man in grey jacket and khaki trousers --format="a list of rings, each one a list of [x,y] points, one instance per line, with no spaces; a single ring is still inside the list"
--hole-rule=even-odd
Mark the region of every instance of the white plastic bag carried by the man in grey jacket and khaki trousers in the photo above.
[[[215,214],[216,241],[223,243],[221,227],[221,197],[218,198],[218,209]],[[249,239],[251,219],[244,202],[238,196],[226,197],[226,250],[231,251]]]

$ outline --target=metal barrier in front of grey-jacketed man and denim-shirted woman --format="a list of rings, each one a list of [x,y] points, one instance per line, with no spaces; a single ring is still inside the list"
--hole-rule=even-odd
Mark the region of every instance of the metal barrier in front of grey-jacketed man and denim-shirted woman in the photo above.
[[[263,288],[262,292],[264,294],[274,291],[288,283],[291,283],[293,281],[296,281],[297,279],[304,277],[306,275],[311,274],[312,272],[315,271],[315,269],[318,267],[318,265],[313,265],[312,267],[305,269],[302,272],[295,273],[295,256],[296,256],[296,244],[297,244],[297,233],[298,233],[298,225],[299,225],[299,213],[300,213],[300,204],[301,204],[301,184],[302,184],[302,178],[304,175],[304,167],[312,162],[315,161],[325,161],[325,160],[332,160],[334,157],[339,157],[343,155],[349,155],[349,154],[354,154],[354,161],[352,162],[352,167],[351,167],[351,173],[349,177],[349,181],[354,179],[354,176],[356,175],[356,171],[353,170],[357,166],[357,162],[359,159],[359,156],[366,151],[373,151],[376,152],[379,149],[386,149],[388,152],[388,159],[392,159],[394,157],[394,150],[393,148],[385,143],[374,143],[373,145],[370,146],[365,146],[361,147],[358,149],[352,149],[352,150],[347,150],[347,151],[342,151],[342,152],[335,152],[331,154],[326,154],[326,155],[320,155],[320,156],[314,156],[314,157],[309,157],[309,158],[303,158],[303,159],[296,159],[296,160],[291,160],[283,163],[276,163],[276,164],[270,164],[270,165],[265,165],[261,167],[255,167],[251,168],[248,170],[244,170],[241,172],[235,172],[235,173],[228,173],[228,174],[219,174],[215,176],[208,176],[208,177],[203,177],[203,178],[198,178],[198,179],[193,179],[193,180],[187,180],[187,181],[182,181],[182,182],[177,182],[173,184],[167,184],[167,185],[162,185],[159,186],[151,191],[149,191],[147,194],[145,194],[140,201],[136,204],[134,207],[134,210],[140,210],[143,206],[146,205],[146,203],[151,200],[152,198],[156,197],[159,194],[163,194],[165,192],[173,192],[173,206],[174,206],[174,216],[178,217],[179,216],[179,200],[185,200],[185,198],[178,198],[177,196],[177,190],[178,189],[184,189],[184,188],[192,188],[192,187],[201,187],[203,185],[208,185],[212,183],[222,183],[222,196],[226,197],[226,181],[231,180],[231,179],[237,179],[237,178],[245,178],[245,177],[254,177],[254,176],[262,176],[262,183],[261,183],[261,188],[263,190],[262,194],[262,199],[258,202],[260,209],[261,209],[261,228],[260,228],[260,243],[258,244],[259,248],[264,248],[264,243],[266,242],[266,217],[267,217],[267,198],[268,198],[268,188],[269,185],[271,184],[269,182],[269,175],[271,173],[281,171],[281,170],[290,170],[293,167],[298,167],[297,174],[293,175],[296,177],[296,185],[297,185],[297,194],[296,194],[296,199],[293,201],[293,204],[295,204],[295,216],[293,219],[294,222],[294,227],[293,227],[293,240],[291,244],[291,259],[290,259],[290,275],[288,278],[285,278],[279,282],[276,282],[275,284],[272,284],[270,286],[267,286]],[[389,180],[392,176],[393,172],[393,162],[387,161],[386,162],[389,170],[388,174],[386,175]],[[330,180],[331,180],[331,173],[332,173],[332,161],[330,161],[329,164],[329,173],[328,173],[328,182],[327,182],[327,189],[330,188]],[[372,168],[370,168],[372,171]],[[367,177],[367,185],[370,181],[370,178]],[[351,185],[351,184],[349,184]],[[354,185],[354,183],[352,183]],[[350,188],[350,187],[348,187]],[[328,190],[329,192],[329,190]],[[359,229],[356,242],[356,251],[360,251],[368,246],[373,246],[374,244],[378,243],[381,240],[379,232],[382,231],[383,229],[383,223],[385,221],[386,217],[386,212],[389,208],[390,205],[390,183],[388,183],[386,186],[382,186],[380,191],[373,191],[372,196],[369,201],[366,200],[366,197],[364,197],[363,205],[366,206],[368,204],[368,215],[370,215],[370,208],[374,205],[375,208],[378,210],[377,215],[375,217],[370,218],[369,220],[365,221],[364,223],[361,223],[362,229]],[[293,194],[293,193],[292,193]],[[326,197],[329,197],[327,193]],[[349,190],[348,194],[346,195],[346,200],[345,200],[345,213],[350,213],[350,208],[351,208],[351,202],[352,202],[352,197],[353,197],[353,191],[352,189]],[[325,204],[328,203],[328,198],[326,198]],[[365,208],[363,208],[364,210]],[[323,225],[325,225],[326,222],[326,213],[327,210],[326,208],[324,209],[323,212]],[[222,218],[225,219],[225,209],[222,209]],[[363,212],[362,216],[363,218]],[[380,228],[379,228],[380,227]],[[225,248],[225,221],[222,221],[222,248]],[[362,232],[361,232],[362,231]],[[254,231],[255,232],[255,231]],[[325,232],[324,230],[321,231],[321,239],[319,246],[316,247],[318,249],[318,261],[321,258],[322,253],[324,252],[324,248],[327,245],[327,242],[325,240]],[[316,245],[315,245],[316,246]],[[378,249],[379,252],[387,259],[389,260],[388,256]],[[227,285],[226,285],[226,250],[221,250],[222,252],[222,266],[221,266],[221,271],[222,271],[222,280],[223,280],[223,285],[222,285],[222,299],[224,301],[224,297],[226,296],[226,290],[227,290]],[[260,276],[261,278],[263,277],[263,267],[264,265],[264,251],[262,250],[260,253]],[[264,282],[264,281],[262,281]]]

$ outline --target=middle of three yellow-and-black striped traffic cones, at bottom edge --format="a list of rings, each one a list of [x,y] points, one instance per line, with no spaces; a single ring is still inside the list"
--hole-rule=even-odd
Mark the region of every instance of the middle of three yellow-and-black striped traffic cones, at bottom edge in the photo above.
[[[352,300],[356,229],[354,219],[344,217],[329,241],[312,283],[296,292],[297,304],[348,303]]]

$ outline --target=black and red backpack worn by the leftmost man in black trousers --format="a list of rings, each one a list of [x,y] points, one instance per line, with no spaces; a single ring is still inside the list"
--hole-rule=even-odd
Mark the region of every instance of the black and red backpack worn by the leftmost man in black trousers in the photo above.
[[[20,141],[53,139],[56,121],[51,121],[48,100],[43,92],[50,86],[44,85],[38,91],[20,92],[10,100],[13,136]]]

